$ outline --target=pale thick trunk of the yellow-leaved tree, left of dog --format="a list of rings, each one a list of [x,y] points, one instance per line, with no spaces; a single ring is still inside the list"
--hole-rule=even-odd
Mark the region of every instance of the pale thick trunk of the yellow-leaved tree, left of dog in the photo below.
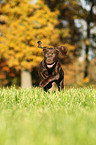
[[[28,70],[21,71],[21,87],[31,88],[32,87],[32,76]]]

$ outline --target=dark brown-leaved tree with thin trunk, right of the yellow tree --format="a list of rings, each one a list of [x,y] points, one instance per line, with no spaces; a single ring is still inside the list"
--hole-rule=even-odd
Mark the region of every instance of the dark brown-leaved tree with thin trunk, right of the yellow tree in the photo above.
[[[59,28],[70,32],[70,37],[62,37],[63,42],[73,44],[77,52],[85,45],[84,79],[88,77],[89,53],[96,50],[96,0],[44,0],[52,11],[59,10]],[[85,22],[82,23],[81,22]],[[86,29],[84,31],[84,25]],[[74,49],[76,50],[76,49]],[[75,51],[76,52],[76,51]],[[80,51],[79,51],[80,52]],[[78,53],[75,53],[78,54]],[[96,55],[94,55],[95,57]]]

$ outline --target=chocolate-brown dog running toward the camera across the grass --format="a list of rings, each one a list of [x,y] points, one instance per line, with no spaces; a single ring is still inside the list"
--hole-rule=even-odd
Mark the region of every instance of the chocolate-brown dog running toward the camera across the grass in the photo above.
[[[52,83],[57,84],[58,90],[64,88],[64,72],[60,65],[59,52],[61,55],[65,56],[67,53],[67,47],[59,46],[55,48],[41,47],[42,42],[38,41],[38,47],[43,49],[44,59],[40,63],[39,74],[40,74],[40,84],[39,86],[47,92],[48,89],[52,87]]]

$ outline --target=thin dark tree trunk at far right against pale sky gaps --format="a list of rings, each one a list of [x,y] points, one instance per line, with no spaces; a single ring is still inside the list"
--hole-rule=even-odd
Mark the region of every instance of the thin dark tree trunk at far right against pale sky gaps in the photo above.
[[[84,71],[84,78],[88,77],[88,68],[89,68],[89,51],[90,49],[94,49],[93,46],[93,41],[94,41],[94,36],[96,37],[96,33],[91,33],[91,30],[93,29],[94,26],[96,26],[96,13],[94,13],[93,8],[95,8],[96,6],[96,1],[95,0],[85,0],[86,4],[89,5],[90,9],[86,10],[86,15],[84,15],[84,20],[86,21],[86,26],[87,26],[87,30],[86,30],[86,49],[85,49],[85,71]],[[93,40],[93,41],[91,41]],[[96,48],[95,48],[96,49]]]

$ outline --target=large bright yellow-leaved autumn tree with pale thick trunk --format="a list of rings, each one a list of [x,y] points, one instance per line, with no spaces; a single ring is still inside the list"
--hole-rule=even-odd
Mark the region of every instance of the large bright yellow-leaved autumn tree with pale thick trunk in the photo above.
[[[54,27],[57,16],[58,11],[52,12],[40,0],[35,4],[32,0],[4,0],[0,4],[0,58],[23,73],[24,87],[31,86],[30,72],[42,58],[37,41],[42,40],[44,45],[59,42],[60,31]]]

